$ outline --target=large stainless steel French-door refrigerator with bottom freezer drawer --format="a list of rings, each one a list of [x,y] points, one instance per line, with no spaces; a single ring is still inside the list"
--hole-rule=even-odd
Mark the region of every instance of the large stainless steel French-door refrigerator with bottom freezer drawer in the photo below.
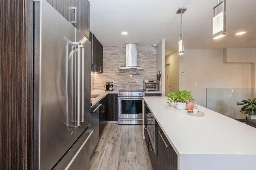
[[[91,43],[34,2],[34,169],[90,169]]]

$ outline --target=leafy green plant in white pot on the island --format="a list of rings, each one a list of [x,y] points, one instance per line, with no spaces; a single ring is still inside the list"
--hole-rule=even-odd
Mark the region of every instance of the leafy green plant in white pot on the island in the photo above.
[[[187,90],[177,90],[176,92],[170,92],[168,94],[168,104],[171,105],[172,102],[176,103],[176,109],[185,110],[186,102],[193,102],[193,94],[191,91]]]

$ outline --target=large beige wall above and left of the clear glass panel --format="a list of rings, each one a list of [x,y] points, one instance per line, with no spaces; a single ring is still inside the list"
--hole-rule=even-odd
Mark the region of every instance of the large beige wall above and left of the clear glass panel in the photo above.
[[[179,56],[180,90],[191,90],[206,107],[206,88],[250,88],[251,64],[223,63],[223,50],[186,50]],[[195,86],[195,83],[198,85]]]

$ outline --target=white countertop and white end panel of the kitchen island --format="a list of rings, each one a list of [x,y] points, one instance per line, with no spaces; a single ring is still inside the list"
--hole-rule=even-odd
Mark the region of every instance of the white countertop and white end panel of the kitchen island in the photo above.
[[[168,106],[167,97],[143,99],[177,154],[178,170],[256,169],[254,127],[202,106],[204,117],[190,116]]]

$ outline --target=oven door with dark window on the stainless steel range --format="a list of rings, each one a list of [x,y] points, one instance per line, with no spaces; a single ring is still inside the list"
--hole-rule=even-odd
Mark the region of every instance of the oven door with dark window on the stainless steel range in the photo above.
[[[142,118],[141,97],[119,97],[118,118]]]

